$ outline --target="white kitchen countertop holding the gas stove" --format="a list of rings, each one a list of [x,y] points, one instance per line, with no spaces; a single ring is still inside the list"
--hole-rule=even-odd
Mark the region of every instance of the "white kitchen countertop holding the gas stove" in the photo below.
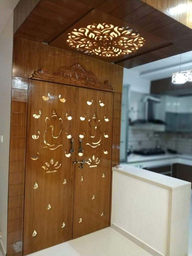
[[[146,168],[163,166],[167,164],[181,163],[192,166],[191,155],[180,155],[180,154],[164,154],[164,155],[153,155],[153,156],[141,156],[137,154],[131,154],[127,157],[127,163],[121,163],[121,166],[131,165],[134,167]]]

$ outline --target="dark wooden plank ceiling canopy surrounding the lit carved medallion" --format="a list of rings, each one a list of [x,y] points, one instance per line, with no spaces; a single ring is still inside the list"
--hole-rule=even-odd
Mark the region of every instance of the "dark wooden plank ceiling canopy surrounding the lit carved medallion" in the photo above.
[[[14,30],[17,36],[73,51],[66,39],[74,28],[103,22],[129,26],[146,39],[145,45],[137,52],[103,60],[131,68],[192,50],[192,29],[182,24],[191,26],[189,14],[175,19],[166,15],[176,2],[187,1],[20,0],[14,11]]]

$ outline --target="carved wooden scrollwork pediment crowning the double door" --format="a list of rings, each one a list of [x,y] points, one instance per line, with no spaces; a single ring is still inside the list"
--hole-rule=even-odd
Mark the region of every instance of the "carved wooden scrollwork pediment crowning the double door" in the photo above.
[[[49,74],[46,68],[40,68],[39,70],[34,71],[31,79],[77,85],[113,92],[113,86],[108,80],[101,83],[93,72],[86,70],[86,68],[80,63],[74,64],[70,67],[64,66],[52,74]]]

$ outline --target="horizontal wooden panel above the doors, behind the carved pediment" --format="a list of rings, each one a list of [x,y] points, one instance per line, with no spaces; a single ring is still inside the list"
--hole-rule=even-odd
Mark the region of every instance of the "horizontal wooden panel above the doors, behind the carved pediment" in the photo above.
[[[75,63],[81,63],[87,70],[93,71],[101,82],[109,80],[114,92],[122,93],[123,67],[25,38],[14,38],[13,76],[30,78],[34,70],[41,67],[53,73]],[[17,89],[14,94],[17,94]],[[25,90],[22,95],[25,97]]]

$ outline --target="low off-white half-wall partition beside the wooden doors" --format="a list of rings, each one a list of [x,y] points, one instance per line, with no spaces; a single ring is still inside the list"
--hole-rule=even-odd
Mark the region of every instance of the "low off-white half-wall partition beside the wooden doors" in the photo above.
[[[188,255],[190,196],[190,182],[113,168],[111,226],[151,255]]]

